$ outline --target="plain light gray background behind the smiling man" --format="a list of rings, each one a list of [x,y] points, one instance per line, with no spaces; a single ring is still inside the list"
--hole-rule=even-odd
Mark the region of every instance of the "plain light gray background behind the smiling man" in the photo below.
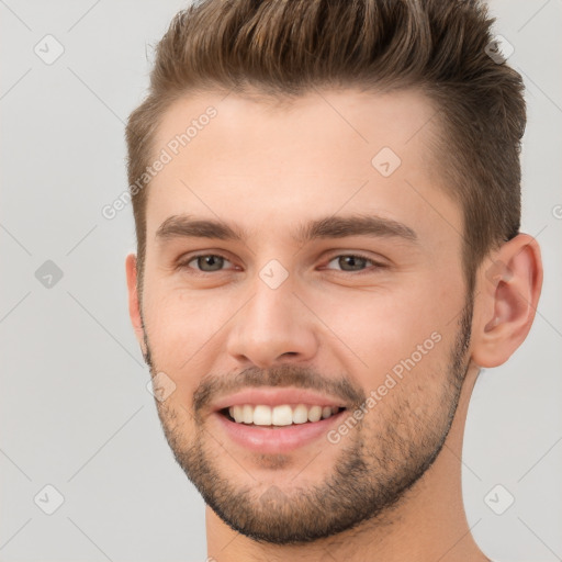
[[[203,502],[164,439],[130,325],[132,211],[101,214],[126,189],[123,128],[149,47],[183,5],[0,0],[1,561],[205,558]],[[562,560],[562,3],[491,7],[528,88],[522,229],[546,281],[528,340],[476,384],[463,493],[485,553],[550,562]],[[50,65],[34,52],[56,54],[47,34],[65,49]],[[50,288],[35,274],[47,260],[63,272]],[[34,502],[55,506],[47,484],[65,498],[50,516]],[[503,515],[484,501],[496,484],[515,497]]]

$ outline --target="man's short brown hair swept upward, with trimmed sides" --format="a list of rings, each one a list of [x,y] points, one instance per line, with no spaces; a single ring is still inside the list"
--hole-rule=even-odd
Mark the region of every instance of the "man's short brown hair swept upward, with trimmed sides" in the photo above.
[[[439,172],[462,209],[472,294],[484,257],[520,226],[524,83],[486,54],[494,21],[480,0],[198,1],[158,44],[148,95],[128,119],[130,186],[154,156],[162,113],[188,93],[419,89],[437,109]],[[146,195],[132,190],[139,289]]]

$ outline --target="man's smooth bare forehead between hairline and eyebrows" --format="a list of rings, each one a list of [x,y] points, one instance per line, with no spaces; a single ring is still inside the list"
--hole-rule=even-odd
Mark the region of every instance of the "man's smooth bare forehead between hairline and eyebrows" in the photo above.
[[[259,235],[340,211],[409,221],[422,233],[437,218],[459,232],[460,210],[437,171],[436,113],[415,91],[186,97],[155,136],[154,158],[168,161],[150,182],[148,234],[181,213]]]

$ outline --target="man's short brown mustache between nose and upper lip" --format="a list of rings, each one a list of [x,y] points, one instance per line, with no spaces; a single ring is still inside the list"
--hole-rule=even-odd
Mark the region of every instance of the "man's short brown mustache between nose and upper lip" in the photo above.
[[[312,368],[294,364],[279,364],[270,369],[249,367],[234,374],[204,376],[193,393],[193,413],[201,413],[218,396],[233,394],[248,386],[293,386],[317,391],[337,396],[350,407],[358,407],[367,400],[363,390],[348,376],[328,379]]]

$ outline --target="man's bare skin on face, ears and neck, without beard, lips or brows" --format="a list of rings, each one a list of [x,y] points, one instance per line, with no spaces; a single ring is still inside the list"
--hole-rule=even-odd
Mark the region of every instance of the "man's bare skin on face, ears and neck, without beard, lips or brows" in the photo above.
[[[165,402],[157,401],[170,446],[187,451],[199,436],[231,490],[250,491],[250,510],[260,509],[259,498],[272,486],[291,508],[299,494],[325,483],[360,439],[376,476],[383,470],[373,460],[383,447],[376,436],[387,430],[416,450],[423,438],[435,441],[438,453],[409,490],[396,494],[392,508],[305,543],[256,541],[206,507],[209,555],[218,562],[319,561],[327,552],[351,562],[366,560],[366,552],[384,562],[487,560],[462,503],[464,423],[479,369],[504,363],[532,324],[542,283],[536,240],[520,234],[479,268],[454,395],[453,351],[467,302],[463,227],[432,161],[429,101],[414,91],[351,89],[311,92],[280,106],[233,93],[186,97],[164,115],[155,154],[207,105],[217,116],[150,183],[142,302],[136,257],[126,258],[136,337],[143,353],[149,351],[153,374],[164,371],[176,384]],[[402,160],[386,178],[371,165],[384,146]],[[235,223],[248,236],[157,239],[162,222],[181,213]],[[305,245],[292,239],[310,220],[360,213],[407,225],[417,243],[364,235]],[[195,252],[228,261],[222,271],[198,276]],[[344,270],[335,258],[350,254],[386,267],[367,261],[358,271]],[[190,266],[178,269],[180,258]],[[288,272],[274,290],[259,277],[272,259]],[[327,384],[344,378],[368,395],[432,333],[441,336],[439,344],[338,443],[321,439],[282,457],[258,454],[233,443],[207,407],[193,411],[193,396],[210,378],[221,382],[250,370],[266,376],[283,366],[311,369]],[[394,453],[404,454],[404,443]],[[391,475],[404,472],[403,460]]]

